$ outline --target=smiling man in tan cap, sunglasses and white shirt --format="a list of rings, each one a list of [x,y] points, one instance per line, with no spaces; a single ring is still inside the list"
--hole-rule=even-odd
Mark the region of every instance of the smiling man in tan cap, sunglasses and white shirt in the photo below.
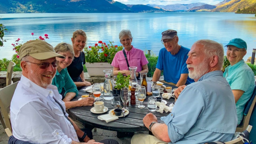
[[[22,76],[11,101],[13,137],[9,142],[76,144],[81,140],[100,144],[90,140],[68,117],[62,96],[51,85],[58,66],[56,57],[65,58],[42,40],[21,46]]]

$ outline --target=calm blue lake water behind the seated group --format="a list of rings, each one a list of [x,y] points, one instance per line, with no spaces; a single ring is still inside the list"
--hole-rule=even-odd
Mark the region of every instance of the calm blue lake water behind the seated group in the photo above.
[[[178,31],[179,44],[191,48],[199,39],[211,39],[226,45],[233,38],[242,38],[248,49],[244,60],[252,56],[256,48],[256,17],[254,14],[219,12],[182,13],[19,13],[0,14],[9,32],[5,33],[4,47],[0,47],[0,59],[11,59],[12,43],[17,38],[26,42],[38,36],[49,35],[46,41],[53,46],[60,42],[71,44],[72,33],[83,29],[88,37],[87,46],[99,40],[119,42],[119,32],[130,29],[132,45],[141,50],[151,50],[158,55],[163,47],[161,32]],[[226,47],[224,48],[226,51]]]

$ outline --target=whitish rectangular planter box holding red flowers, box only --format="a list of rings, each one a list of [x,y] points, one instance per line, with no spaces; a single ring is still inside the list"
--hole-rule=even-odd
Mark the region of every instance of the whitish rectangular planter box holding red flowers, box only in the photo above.
[[[97,63],[85,63],[87,68],[87,72],[89,76],[104,76],[103,70],[111,69],[113,70],[113,66],[111,66],[107,62],[97,62]]]

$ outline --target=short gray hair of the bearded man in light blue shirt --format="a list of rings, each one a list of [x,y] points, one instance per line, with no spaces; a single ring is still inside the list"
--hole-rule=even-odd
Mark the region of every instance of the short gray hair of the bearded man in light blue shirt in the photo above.
[[[198,40],[194,44],[202,44],[204,53],[208,58],[217,55],[219,58],[218,66],[222,69],[224,62],[224,49],[222,44],[209,39]]]

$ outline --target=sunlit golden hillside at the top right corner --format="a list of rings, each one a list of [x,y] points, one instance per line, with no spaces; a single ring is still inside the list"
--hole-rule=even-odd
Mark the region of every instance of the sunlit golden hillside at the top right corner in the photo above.
[[[256,0],[232,0],[217,6],[211,12],[236,12],[238,9],[246,9],[254,4],[256,4]]]

